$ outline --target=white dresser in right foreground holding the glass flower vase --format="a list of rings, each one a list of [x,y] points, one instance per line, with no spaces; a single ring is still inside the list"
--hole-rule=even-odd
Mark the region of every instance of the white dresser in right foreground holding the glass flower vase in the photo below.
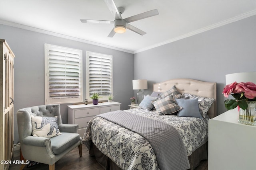
[[[238,123],[238,109],[209,120],[208,170],[256,170],[256,126]]]

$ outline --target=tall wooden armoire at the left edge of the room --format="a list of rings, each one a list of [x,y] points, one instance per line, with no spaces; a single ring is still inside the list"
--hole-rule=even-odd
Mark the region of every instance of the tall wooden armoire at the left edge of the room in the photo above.
[[[0,39],[0,170],[8,170],[13,156],[14,53]]]

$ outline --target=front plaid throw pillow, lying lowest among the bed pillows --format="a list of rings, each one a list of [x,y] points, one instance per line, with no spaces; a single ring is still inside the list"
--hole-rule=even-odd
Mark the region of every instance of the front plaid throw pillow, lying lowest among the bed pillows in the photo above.
[[[153,104],[156,107],[156,111],[164,115],[169,115],[182,109],[182,107],[175,103],[173,96],[168,96],[166,98],[156,100],[153,102]]]

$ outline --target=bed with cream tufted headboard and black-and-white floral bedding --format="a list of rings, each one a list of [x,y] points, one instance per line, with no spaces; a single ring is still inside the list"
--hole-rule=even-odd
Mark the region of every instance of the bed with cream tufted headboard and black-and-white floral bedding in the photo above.
[[[115,113],[116,115],[112,117],[122,115],[120,119],[122,117],[123,119],[120,121],[124,122],[124,125],[121,125],[104,117],[104,113],[101,115],[103,117],[96,116],[92,118],[84,133],[82,142],[88,147],[90,155],[94,155],[96,160],[106,170],[193,170],[199,165],[201,160],[207,159],[208,120],[216,116],[216,83],[192,79],[172,79],[153,84],[153,92],[166,94],[174,86],[182,94],[182,97],[196,98],[198,107],[201,107],[201,113],[202,110],[203,112],[206,111],[206,115],[202,118],[183,117],[175,113],[162,115],[158,112],[158,106],[154,105],[158,111],[154,109],[148,111],[142,108],[128,109],[120,113],[117,111],[118,113]],[[210,106],[206,106],[209,105],[209,101],[211,101]],[[111,114],[113,113],[106,113],[106,116]],[[134,117],[132,121],[129,120],[132,123],[126,122],[127,117]],[[142,136],[136,133],[140,128],[136,130],[127,129],[130,124],[132,124],[131,126],[133,126],[133,123],[140,124],[138,123],[141,121],[140,119],[136,123],[138,117],[143,117],[143,122],[147,120],[153,121],[152,119],[154,119],[156,127],[160,122],[164,122],[160,124],[161,126],[168,126],[166,128],[169,128],[169,126],[174,127],[176,129],[174,136],[178,133],[179,139],[169,142],[174,146],[166,147],[165,145],[169,145],[169,143],[166,144],[166,141],[162,142],[162,139],[159,145],[156,145],[156,141],[153,139],[148,140],[148,136],[146,136],[148,134]],[[144,123],[142,124],[144,125]],[[146,127],[146,129],[150,128]],[[162,129],[159,130],[159,133],[161,131]],[[163,133],[169,134],[168,131],[164,131]],[[156,138],[160,139],[159,137]],[[177,137],[170,138],[170,135],[168,135],[166,138],[165,140],[168,141],[174,140]],[[165,150],[157,149],[161,147],[164,147]],[[183,152],[185,152],[185,156]],[[165,159],[167,162],[163,163],[166,161]],[[166,167],[166,165],[168,166]]]

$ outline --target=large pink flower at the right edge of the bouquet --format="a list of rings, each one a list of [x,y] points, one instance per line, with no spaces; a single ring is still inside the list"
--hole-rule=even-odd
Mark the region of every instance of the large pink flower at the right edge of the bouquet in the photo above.
[[[252,82],[241,82],[236,86],[237,92],[244,92],[244,96],[248,99],[253,99],[256,97],[256,84]]]

